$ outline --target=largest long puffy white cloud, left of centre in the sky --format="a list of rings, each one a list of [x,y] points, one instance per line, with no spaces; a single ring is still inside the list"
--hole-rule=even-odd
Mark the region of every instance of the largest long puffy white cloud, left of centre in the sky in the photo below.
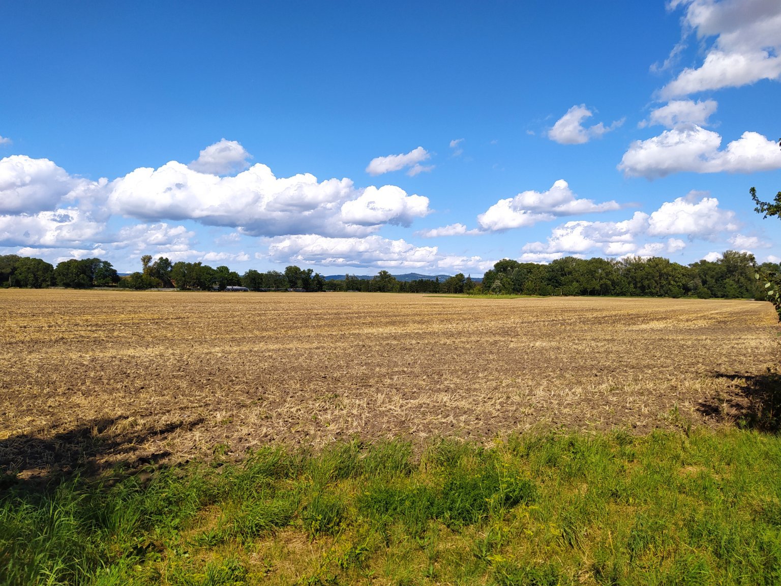
[[[366,235],[384,223],[408,225],[429,200],[401,188],[355,188],[349,179],[318,182],[310,173],[277,178],[256,163],[235,177],[198,173],[172,161],[140,168],[112,184],[113,213],[141,220],[198,220],[242,234]]]

